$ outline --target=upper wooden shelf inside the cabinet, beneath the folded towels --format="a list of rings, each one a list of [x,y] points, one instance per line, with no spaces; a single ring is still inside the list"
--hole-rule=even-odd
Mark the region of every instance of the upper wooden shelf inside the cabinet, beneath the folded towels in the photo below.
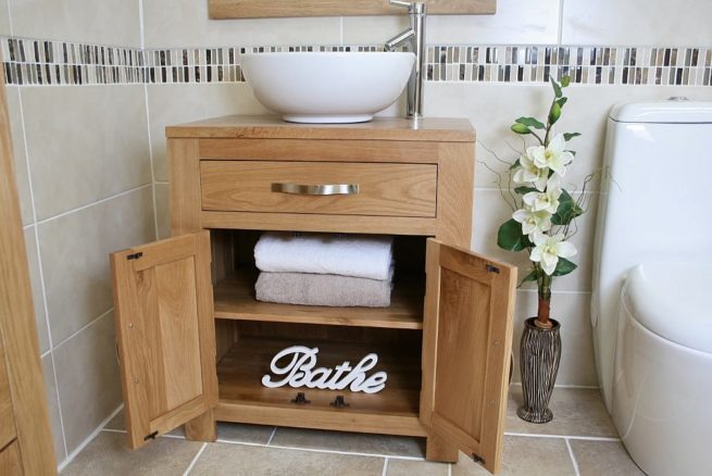
[[[329,308],[258,301],[254,299],[255,279],[255,273],[241,272],[220,281],[213,291],[215,317],[394,329],[423,328],[422,280],[398,280],[389,308]]]

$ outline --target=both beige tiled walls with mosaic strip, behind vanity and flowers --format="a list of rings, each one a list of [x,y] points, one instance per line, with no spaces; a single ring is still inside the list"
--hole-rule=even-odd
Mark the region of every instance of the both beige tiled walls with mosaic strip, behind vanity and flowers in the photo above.
[[[121,401],[107,253],[168,235],[164,127],[267,113],[241,82],[240,49],[373,48],[407,25],[404,16],[210,21],[207,3],[0,5],[4,68],[14,84],[9,100],[17,180],[60,461]],[[520,147],[509,131],[511,121],[544,114],[550,101],[547,75],[566,67],[576,84],[569,89],[562,127],[584,134],[572,142],[578,154],[566,177],[577,183],[601,164],[605,115],[615,102],[712,100],[711,18],[707,0],[684,8],[665,0],[498,0],[494,16],[430,17],[425,114],[469,117],[477,129],[478,160],[501,170],[491,152],[511,159],[512,147]],[[399,108],[384,114],[400,114]],[[554,284],[552,313],[562,321],[564,343],[560,385],[597,385],[589,323],[597,190],[587,192],[590,210],[574,238],[579,270]],[[473,213],[475,250],[526,264],[523,255],[495,245],[508,209],[482,164]],[[517,292],[517,336],[535,300],[532,288]]]

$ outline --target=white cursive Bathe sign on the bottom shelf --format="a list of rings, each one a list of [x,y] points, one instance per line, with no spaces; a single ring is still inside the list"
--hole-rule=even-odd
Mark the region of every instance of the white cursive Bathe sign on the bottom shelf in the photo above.
[[[378,362],[378,355],[375,353],[364,356],[353,367],[350,362],[346,361],[334,368],[314,368],[318,348],[304,346],[292,346],[279,351],[270,364],[270,371],[276,377],[265,375],[262,377],[262,385],[268,388],[288,385],[293,388],[308,387],[327,390],[343,390],[349,387],[351,391],[365,393],[376,393],[386,387],[388,374],[385,372],[376,372],[366,377],[366,372],[375,367]],[[280,365],[279,362],[283,359],[285,360]]]

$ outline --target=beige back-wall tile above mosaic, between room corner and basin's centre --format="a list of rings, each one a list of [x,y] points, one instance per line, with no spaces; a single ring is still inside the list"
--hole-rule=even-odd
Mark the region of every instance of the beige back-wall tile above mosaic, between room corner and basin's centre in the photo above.
[[[339,45],[338,17],[210,20],[208,2],[143,0],[146,48]]]

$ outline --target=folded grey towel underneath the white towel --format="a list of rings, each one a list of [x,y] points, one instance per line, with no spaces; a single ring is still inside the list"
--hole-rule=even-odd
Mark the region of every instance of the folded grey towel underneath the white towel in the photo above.
[[[308,273],[260,273],[259,301],[284,304],[388,308],[391,281]]]

